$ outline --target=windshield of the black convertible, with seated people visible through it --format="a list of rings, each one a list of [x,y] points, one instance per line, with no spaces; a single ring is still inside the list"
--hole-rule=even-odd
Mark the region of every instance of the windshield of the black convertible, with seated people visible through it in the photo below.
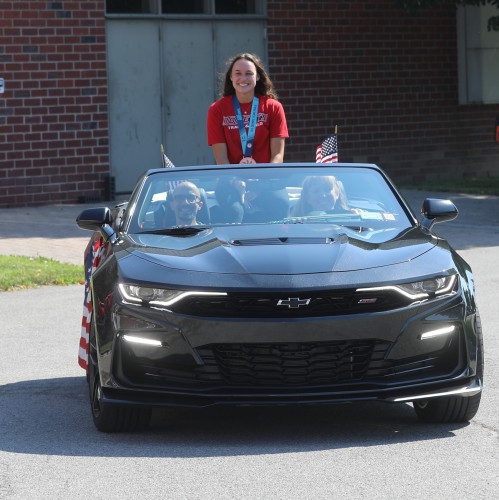
[[[383,174],[338,164],[152,171],[129,204],[130,233],[196,234],[250,224],[333,224],[359,232],[413,221]]]

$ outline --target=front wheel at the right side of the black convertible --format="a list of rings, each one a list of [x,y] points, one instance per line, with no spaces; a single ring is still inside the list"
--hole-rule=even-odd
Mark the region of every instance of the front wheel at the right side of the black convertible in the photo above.
[[[476,313],[475,330],[477,335],[477,375],[483,383],[483,336],[480,315]],[[414,411],[419,420],[432,423],[469,422],[477,413],[482,393],[474,396],[450,396],[446,398],[414,401]]]

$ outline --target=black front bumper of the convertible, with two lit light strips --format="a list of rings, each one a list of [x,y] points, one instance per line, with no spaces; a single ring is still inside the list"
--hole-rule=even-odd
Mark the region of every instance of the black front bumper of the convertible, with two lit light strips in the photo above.
[[[205,407],[471,396],[481,391],[473,317],[459,294],[292,321],[194,317],[120,302],[99,338],[103,401]],[[448,325],[452,333],[421,339]]]

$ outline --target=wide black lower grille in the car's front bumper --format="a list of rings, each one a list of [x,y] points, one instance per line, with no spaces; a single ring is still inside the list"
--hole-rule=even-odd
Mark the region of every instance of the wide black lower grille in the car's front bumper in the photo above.
[[[403,359],[386,359],[392,344],[383,340],[209,344],[196,348],[201,364],[181,368],[160,360],[138,359],[126,364],[130,382],[251,392],[342,390],[384,386],[448,377],[463,369],[459,338],[437,352]],[[128,366],[127,366],[128,365]]]

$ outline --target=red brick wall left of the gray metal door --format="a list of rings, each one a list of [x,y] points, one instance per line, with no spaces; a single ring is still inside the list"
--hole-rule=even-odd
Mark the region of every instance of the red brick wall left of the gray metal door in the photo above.
[[[0,207],[102,196],[104,0],[0,0]]]

